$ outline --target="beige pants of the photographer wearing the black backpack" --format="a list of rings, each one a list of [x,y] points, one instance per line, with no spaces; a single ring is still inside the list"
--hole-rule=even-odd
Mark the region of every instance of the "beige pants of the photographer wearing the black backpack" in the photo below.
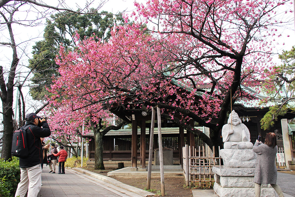
[[[28,197],[36,197],[41,189],[41,164],[33,167],[20,168],[20,182],[15,196],[24,197],[28,190]]]

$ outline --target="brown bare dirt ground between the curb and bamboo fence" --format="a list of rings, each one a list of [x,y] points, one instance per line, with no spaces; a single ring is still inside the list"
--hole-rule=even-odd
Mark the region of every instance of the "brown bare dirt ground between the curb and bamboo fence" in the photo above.
[[[106,170],[94,170],[93,168],[84,168],[86,170],[101,174],[106,176],[107,172],[116,170],[116,169],[106,169]],[[136,188],[145,189],[147,185],[147,177],[146,176],[111,176],[122,183],[127,185],[134,186]],[[185,187],[185,180],[183,175],[165,175],[165,194],[169,197],[183,197],[183,196],[193,196],[191,189]],[[155,193],[158,196],[161,196],[161,182],[160,176],[151,177],[151,190],[152,193]]]

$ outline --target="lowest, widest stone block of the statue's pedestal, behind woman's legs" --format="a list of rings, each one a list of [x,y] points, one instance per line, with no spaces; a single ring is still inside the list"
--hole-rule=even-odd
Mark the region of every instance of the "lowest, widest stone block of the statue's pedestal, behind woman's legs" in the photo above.
[[[236,188],[236,187],[222,187],[218,183],[214,183],[214,192],[219,197],[253,197],[255,196],[254,187],[250,188]],[[278,196],[273,188],[261,188],[261,197]]]

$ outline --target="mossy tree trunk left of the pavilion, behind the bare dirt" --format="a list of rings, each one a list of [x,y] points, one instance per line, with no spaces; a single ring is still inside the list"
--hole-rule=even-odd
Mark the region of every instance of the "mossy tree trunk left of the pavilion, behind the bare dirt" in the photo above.
[[[99,131],[94,132],[94,142],[95,142],[95,165],[94,169],[104,170],[104,159],[103,159],[103,133]]]

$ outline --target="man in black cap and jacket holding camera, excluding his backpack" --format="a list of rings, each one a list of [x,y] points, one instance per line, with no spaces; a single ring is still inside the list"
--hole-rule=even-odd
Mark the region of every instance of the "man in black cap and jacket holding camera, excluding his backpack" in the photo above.
[[[51,132],[45,117],[30,113],[25,120],[24,127],[29,126],[26,129],[29,155],[19,158],[21,177],[15,196],[24,197],[28,191],[28,197],[36,197],[41,189],[43,150],[40,138],[50,136]]]

